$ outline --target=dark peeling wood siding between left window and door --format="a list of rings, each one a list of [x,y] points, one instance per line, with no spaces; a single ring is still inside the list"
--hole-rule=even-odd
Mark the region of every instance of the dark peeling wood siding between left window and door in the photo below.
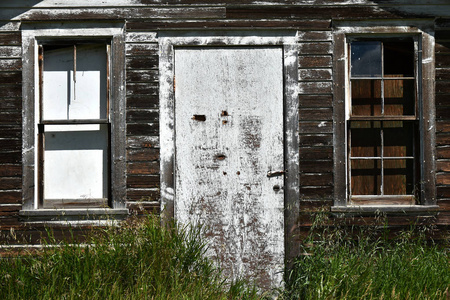
[[[156,32],[126,32],[127,207],[159,210],[159,84]]]

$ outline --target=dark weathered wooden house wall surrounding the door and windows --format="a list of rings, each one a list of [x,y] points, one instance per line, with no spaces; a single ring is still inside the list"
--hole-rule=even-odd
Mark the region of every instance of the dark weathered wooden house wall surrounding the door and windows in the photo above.
[[[333,33],[340,21],[373,20],[408,26],[433,24],[435,38],[435,180],[438,208],[388,214],[392,226],[427,220],[450,225],[450,3],[448,0],[19,0],[0,3],[0,234],[7,243],[35,244],[53,226],[64,234],[62,223],[25,222],[23,208],[23,83],[22,31],[24,26],[76,22],[123,24],[126,95],[126,194],[130,214],[160,209],[160,45],[161,32],[270,30],[296,32],[298,52],[298,168],[299,197],[289,199],[300,229],[311,225],[311,213],[330,210],[336,195],[333,124],[337,97]],[[364,23],[366,22],[366,23]],[[430,130],[434,130],[431,128]],[[296,211],[296,210],[294,210]],[[353,214],[352,216],[355,216]],[[365,224],[373,213],[356,214]],[[295,221],[294,221],[295,223]],[[89,225],[90,226],[90,225]],[[81,224],[80,229],[83,228]],[[295,231],[295,235],[301,230]],[[59,230],[59,231],[58,231]],[[296,242],[291,241],[292,247]],[[295,251],[294,251],[295,253]]]

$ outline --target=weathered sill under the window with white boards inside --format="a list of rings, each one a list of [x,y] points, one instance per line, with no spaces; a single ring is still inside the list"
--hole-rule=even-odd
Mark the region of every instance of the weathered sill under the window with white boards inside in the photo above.
[[[19,216],[25,222],[83,222],[122,220],[129,215],[126,208],[72,208],[21,210]]]

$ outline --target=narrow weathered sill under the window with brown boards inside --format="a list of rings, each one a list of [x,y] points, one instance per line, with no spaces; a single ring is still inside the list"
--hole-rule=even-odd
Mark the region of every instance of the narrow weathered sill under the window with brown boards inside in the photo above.
[[[438,205],[349,205],[332,206],[331,212],[334,213],[354,213],[354,214],[436,214],[439,211]]]

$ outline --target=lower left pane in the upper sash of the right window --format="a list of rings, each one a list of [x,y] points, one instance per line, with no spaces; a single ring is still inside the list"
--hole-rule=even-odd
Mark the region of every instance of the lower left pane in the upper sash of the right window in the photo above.
[[[381,80],[355,79],[352,84],[352,116],[381,115]]]

